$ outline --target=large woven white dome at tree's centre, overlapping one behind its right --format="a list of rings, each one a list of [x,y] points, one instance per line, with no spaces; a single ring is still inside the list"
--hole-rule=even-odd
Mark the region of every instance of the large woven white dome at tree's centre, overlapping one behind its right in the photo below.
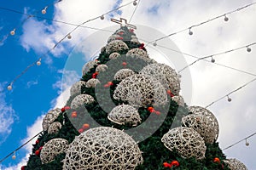
[[[167,95],[165,88],[154,78],[147,75],[126,77],[114,90],[114,99],[128,101],[129,105],[165,105]]]

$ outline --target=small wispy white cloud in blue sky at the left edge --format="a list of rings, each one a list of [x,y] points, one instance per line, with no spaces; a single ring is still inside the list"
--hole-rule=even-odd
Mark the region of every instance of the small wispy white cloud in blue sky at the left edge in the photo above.
[[[2,144],[12,132],[12,125],[15,122],[15,110],[5,100],[5,82],[0,82],[0,144]]]

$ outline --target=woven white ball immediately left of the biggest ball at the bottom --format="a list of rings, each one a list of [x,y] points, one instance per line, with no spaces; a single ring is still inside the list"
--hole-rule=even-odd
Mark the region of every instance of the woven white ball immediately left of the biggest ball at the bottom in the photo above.
[[[49,163],[55,160],[55,156],[64,153],[67,150],[67,139],[51,139],[44,144],[43,149],[40,152],[40,159],[42,163]]]

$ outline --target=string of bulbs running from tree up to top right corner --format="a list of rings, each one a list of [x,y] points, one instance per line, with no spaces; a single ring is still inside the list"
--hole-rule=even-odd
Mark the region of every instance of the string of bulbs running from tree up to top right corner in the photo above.
[[[227,13],[225,13],[225,14],[220,14],[220,15],[218,15],[218,16],[216,16],[216,17],[213,17],[212,19],[202,21],[202,22],[199,23],[199,24],[195,24],[195,25],[193,25],[193,26],[189,26],[188,28],[185,28],[185,29],[183,29],[183,30],[176,31],[176,32],[172,32],[171,34],[169,34],[169,35],[167,35],[167,36],[165,36],[165,37],[160,37],[160,38],[155,39],[154,41],[149,42],[149,43],[153,43],[153,42],[155,42],[155,41],[160,41],[160,40],[165,39],[165,38],[167,38],[167,37],[171,37],[171,36],[173,36],[173,35],[177,35],[177,34],[183,32],[183,31],[188,31],[188,30],[189,30],[189,35],[190,35],[190,33],[191,33],[190,30],[191,30],[192,28],[205,25],[205,24],[207,24],[207,23],[209,23],[209,22],[212,22],[212,20],[217,20],[217,19],[219,19],[219,18],[221,18],[221,17],[226,16],[227,14],[236,13],[236,12],[238,12],[238,11],[241,11],[241,10],[244,9],[244,8],[251,7],[251,6],[255,5],[255,4],[256,4],[256,2],[254,2],[254,3],[249,3],[249,4],[245,5],[245,6],[242,6],[241,8],[236,8],[235,10],[232,10],[232,11],[227,12]],[[227,17],[226,17],[226,18],[227,18]],[[224,20],[226,20],[226,19],[224,18]],[[193,34],[193,32],[192,32],[192,34]],[[192,35],[192,34],[191,34],[191,35]],[[147,44],[147,45],[148,45],[148,44]]]

